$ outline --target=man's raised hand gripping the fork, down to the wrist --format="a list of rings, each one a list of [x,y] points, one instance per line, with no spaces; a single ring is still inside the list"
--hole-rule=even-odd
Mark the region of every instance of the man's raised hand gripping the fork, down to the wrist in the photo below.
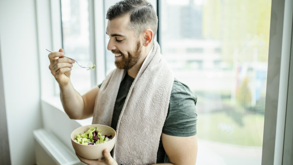
[[[63,49],[59,49],[59,52],[52,52],[48,55],[50,59],[49,69],[60,87],[66,86],[69,83],[72,64],[74,63],[73,60],[64,58],[63,56]]]

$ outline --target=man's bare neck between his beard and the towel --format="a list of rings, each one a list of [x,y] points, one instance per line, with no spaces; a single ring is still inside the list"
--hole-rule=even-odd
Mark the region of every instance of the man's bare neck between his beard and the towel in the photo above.
[[[134,78],[136,77],[137,73],[139,72],[139,69],[142,67],[142,63],[146,59],[147,55],[150,53],[151,48],[154,44],[149,44],[147,47],[142,47],[141,57],[138,60],[138,62],[130,69],[127,70],[127,74]]]

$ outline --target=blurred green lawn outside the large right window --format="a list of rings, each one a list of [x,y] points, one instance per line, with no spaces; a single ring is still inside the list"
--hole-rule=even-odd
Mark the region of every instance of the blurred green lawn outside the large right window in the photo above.
[[[246,146],[263,145],[264,115],[242,115],[243,125],[239,125],[225,111],[199,114],[197,137],[215,142]],[[220,129],[220,125],[231,126],[231,131]]]

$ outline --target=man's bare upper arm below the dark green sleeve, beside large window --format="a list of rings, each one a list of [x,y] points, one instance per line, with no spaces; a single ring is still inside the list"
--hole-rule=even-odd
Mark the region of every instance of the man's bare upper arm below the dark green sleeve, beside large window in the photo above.
[[[195,164],[197,157],[197,137],[170,136],[162,133],[162,143],[171,164]]]

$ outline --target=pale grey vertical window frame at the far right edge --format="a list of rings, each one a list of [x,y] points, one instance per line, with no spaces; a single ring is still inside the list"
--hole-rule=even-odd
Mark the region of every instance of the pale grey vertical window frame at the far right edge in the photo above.
[[[283,159],[289,161],[289,158],[284,156],[283,146],[285,145],[286,111],[292,111],[292,105],[287,106],[292,44],[292,8],[292,0],[272,0],[262,165],[285,165],[286,160],[283,161]],[[277,17],[273,16],[275,14]],[[277,83],[272,83],[273,81]],[[272,93],[277,96],[269,100]],[[289,150],[292,153],[292,148]]]

